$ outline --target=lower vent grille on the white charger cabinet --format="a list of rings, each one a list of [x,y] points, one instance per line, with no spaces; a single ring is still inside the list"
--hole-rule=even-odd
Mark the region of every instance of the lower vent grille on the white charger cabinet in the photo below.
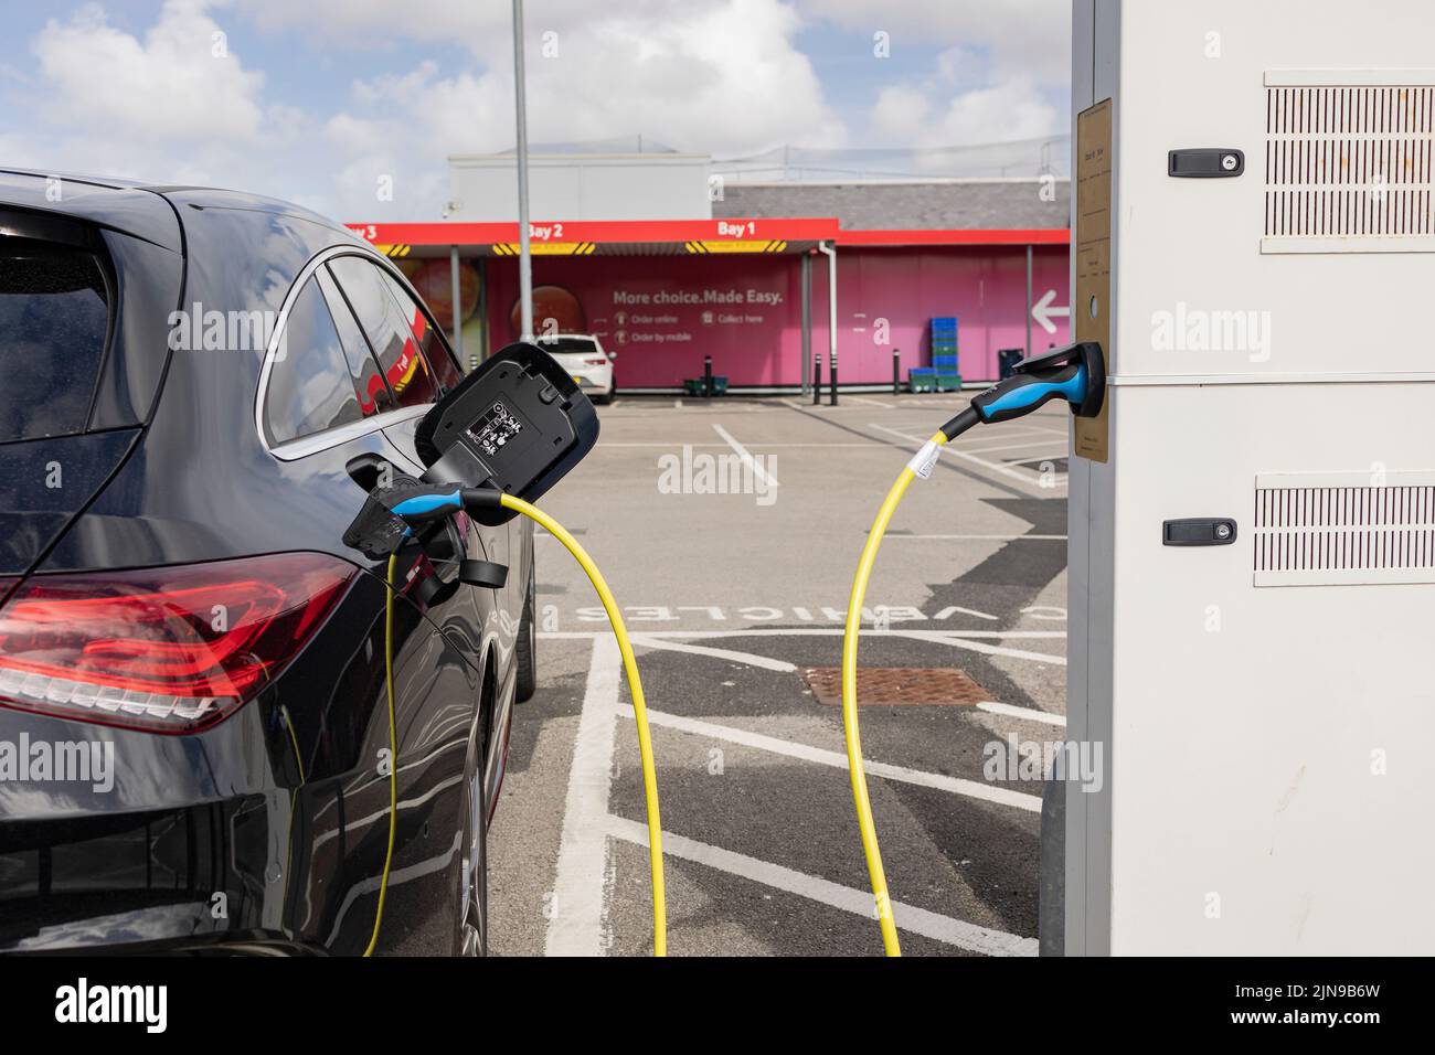
[[[1435,474],[1320,475],[1257,482],[1256,586],[1435,583]]]

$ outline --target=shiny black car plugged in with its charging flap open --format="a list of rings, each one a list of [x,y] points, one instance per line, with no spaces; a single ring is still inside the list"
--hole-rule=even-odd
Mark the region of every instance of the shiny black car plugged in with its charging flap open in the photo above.
[[[0,172],[0,952],[356,955],[380,887],[375,952],[485,950],[532,530],[456,517],[392,630],[342,541],[346,465],[418,475],[459,380],[323,217]],[[452,589],[462,558],[507,584]]]

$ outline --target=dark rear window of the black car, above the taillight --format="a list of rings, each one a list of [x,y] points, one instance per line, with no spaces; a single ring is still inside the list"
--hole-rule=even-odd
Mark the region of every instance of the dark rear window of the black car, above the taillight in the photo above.
[[[85,431],[108,329],[92,253],[0,238],[0,442]]]

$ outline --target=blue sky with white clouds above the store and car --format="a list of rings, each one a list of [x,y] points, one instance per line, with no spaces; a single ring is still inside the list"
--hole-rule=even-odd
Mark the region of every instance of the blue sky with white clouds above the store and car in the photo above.
[[[535,144],[643,135],[739,156],[1002,142],[1068,122],[1068,0],[525,10]],[[509,0],[6,0],[3,17],[0,165],[433,220],[449,154],[514,144]]]

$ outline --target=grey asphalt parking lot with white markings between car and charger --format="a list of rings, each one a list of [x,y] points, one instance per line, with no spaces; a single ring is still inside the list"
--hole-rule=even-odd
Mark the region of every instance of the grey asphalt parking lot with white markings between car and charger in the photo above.
[[[838,666],[872,514],[964,402],[620,398],[545,497],[634,634],[670,955],[881,953],[841,713],[804,672]],[[907,955],[1036,952],[1042,785],[989,759],[1012,738],[1065,733],[1066,421],[1048,406],[960,438],[908,491],[868,591],[864,667],[960,667],[980,686],[963,705],[862,706]],[[749,494],[703,492],[709,469],[735,465]],[[540,689],[517,713],[489,834],[492,952],[647,955],[643,785],[617,649],[554,540],[538,538],[537,566]]]

